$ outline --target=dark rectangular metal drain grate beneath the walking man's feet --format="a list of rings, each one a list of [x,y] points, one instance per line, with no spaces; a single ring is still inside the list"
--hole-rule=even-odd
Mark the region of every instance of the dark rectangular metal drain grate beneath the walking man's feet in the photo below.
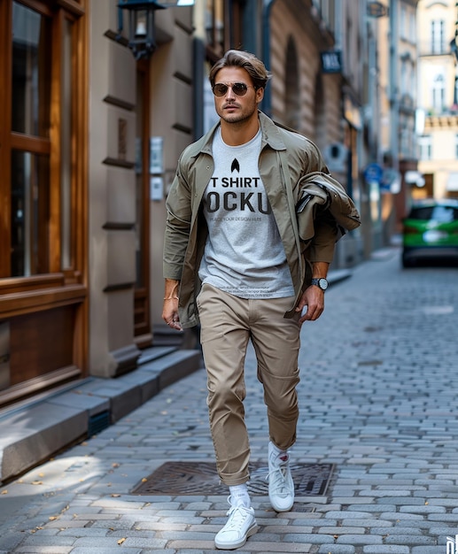
[[[296,496],[322,496],[333,472],[333,464],[291,464]],[[252,495],[268,495],[268,467],[250,464]],[[133,495],[227,495],[214,464],[207,462],[167,462],[132,491]]]

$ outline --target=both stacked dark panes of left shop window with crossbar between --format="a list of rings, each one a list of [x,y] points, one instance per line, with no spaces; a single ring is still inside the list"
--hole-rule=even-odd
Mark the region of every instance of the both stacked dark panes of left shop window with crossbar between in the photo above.
[[[10,275],[50,271],[50,18],[12,4]]]

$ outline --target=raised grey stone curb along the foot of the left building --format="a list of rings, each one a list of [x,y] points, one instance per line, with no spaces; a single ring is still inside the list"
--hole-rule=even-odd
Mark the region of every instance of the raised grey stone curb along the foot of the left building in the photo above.
[[[90,377],[0,416],[0,485],[96,435],[203,366],[199,350],[153,347],[116,379]]]

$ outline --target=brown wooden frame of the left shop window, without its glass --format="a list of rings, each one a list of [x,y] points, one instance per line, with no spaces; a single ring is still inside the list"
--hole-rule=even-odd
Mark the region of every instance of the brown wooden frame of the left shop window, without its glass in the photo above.
[[[39,0],[17,0],[27,8],[39,12],[51,19],[51,85],[50,85],[50,134],[48,137],[24,135],[13,132],[11,125],[4,125],[0,130],[0,164],[4,168],[4,186],[0,183],[0,243],[11,244],[11,153],[12,150],[27,151],[33,155],[49,157],[50,181],[49,181],[49,265],[48,273],[31,276],[11,276],[11,250],[0,249],[0,318],[4,317],[2,310],[2,296],[11,293],[20,293],[30,289],[48,289],[50,281],[54,281],[57,287],[66,284],[74,285],[83,283],[84,258],[86,256],[86,218],[84,206],[87,203],[85,190],[87,182],[87,155],[84,139],[87,136],[87,90],[86,78],[87,62],[85,60],[85,38],[87,35],[87,23],[79,21],[79,16],[87,10],[84,2],[76,0],[56,0],[52,4]],[[51,9],[52,8],[52,9]],[[57,45],[63,40],[64,19],[74,22],[72,52],[72,75],[74,82],[74,94],[72,97],[72,127],[74,131],[71,137],[72,172],[71,172],[71,212],[78,217],[72,217],[71,222],[71,267],[61,267],[61,163],[60,163],[60,110],[62,105],[62,49]],[[1,120],[11,120],[9,114],[12,109],[12,0],[1,3],[0,20],[3,31],[0,38],[0,77],[6,86],[0,88]],[[75,137],[75,129],[78,128],[78,137]],[[82,130],[82,131],[81,131]],[[84,137],[84,139],[82,138]],[[76,232],[78,231],[78,232]],[[57,281],[50,276],[57,276]]]

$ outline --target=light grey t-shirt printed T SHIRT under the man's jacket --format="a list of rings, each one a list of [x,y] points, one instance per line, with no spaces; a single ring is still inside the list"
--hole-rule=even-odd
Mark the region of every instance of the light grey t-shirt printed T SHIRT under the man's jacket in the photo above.
[[[260,179],[260,131],[241,146],[213,138],[214,173],[204,195],[208,238],[199,268],[209,283],[240,298],[294,295],[283,242]]]

